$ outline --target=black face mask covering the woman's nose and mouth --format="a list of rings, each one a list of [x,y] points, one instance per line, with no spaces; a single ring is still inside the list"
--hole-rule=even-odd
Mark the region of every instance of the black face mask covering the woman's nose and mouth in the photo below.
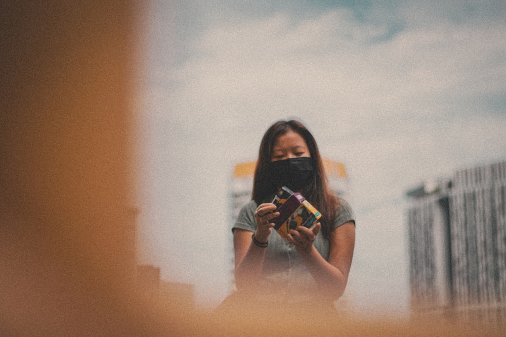
[[[276,187],[301,190],[311,181],[314,169],[309,157],[288,158],[269,163],[269,178]]]

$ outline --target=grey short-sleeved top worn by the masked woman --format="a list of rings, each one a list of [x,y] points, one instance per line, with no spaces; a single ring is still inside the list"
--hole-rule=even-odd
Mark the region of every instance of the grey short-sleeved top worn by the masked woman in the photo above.
[[[255,232],[257,223],[254,213],[257,207],[257,203],[253,200],[244,205],[232,227],[232,231],[243,229]],[[348,221],[355,222],[353,211],[345,200],[340,199],[339,212],[331,230]],[[320,255],[328,260],[329,241],[323,237],[321,230],[313,245]],[[270,293],[270,296],[266,298],[285,303],[304,302],[315,298],[315,293],[318,293],[313,288],[315,286],[316,281],[307,270],[295,248],[285,243],[281,236],[273,230],[269,235],[269,245],[267,246],[259,284],[264,294]]]

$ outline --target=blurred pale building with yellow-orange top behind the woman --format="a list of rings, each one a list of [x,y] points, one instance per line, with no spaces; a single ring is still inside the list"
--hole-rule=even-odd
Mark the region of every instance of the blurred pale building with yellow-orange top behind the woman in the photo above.
[[[255,166],[257,162],[244,162],[236,164],[232,176],[231,196],[230,196],[230,209],[231,219],[230,227],[227,228],[227,266],[230,270],[230,292],[234,290],[233,273],[234,273],[234,247],[232,232],[232,224],[237,219],[239,211],[244,204],[251,200],[251,191],[253,190],[253,176],[255,174]],[[345,197],[348,191],[348,175],[344,164],[334,162],[328,159],[323,159],[325,172],[327,174],[328,183],[330,188],[339,197]]]

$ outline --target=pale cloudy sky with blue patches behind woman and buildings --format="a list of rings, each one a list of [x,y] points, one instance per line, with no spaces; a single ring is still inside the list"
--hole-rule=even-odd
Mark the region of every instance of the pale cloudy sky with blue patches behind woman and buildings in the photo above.
[[[233,166],[297,116],[348,170],[345,300],[408,310],[404,194],[506,159],[503,1],[152,1],[139,74],[139,260],[226,295]]]

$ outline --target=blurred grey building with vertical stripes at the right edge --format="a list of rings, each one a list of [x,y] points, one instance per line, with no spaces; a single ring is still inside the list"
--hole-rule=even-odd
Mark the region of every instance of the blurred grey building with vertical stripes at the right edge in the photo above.
[[[506,162],[407,192],[411,306],[450,318],[506,317]]]

